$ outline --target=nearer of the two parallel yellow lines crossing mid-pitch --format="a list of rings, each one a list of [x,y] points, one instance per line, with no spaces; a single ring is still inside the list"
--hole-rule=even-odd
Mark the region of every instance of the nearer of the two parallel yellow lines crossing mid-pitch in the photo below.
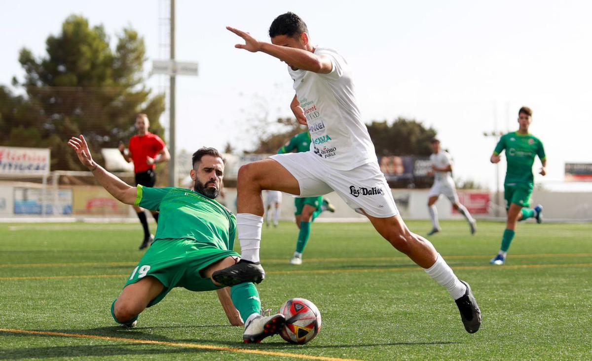
[[[503,265],[503,266],[455,266],[454,269],[517,269],[517,268],[569,268],[569,267],[592,267],[592,264],[548,264],[548,265]],[[407,272],[423,271],[417,266],[408,266],[405,268],[360,268],[360,269],[310,269],[296,271],[269,271],[268,275],[296,275],[296,274],[332,274],[332,273],[379,273],[379,272]],[[78,279],[78,278],[116,278],[127,277],[128,275],[80,275],[80,276],[30,276],[30,277],[0,277],[0,281],[26,281],[35,279]]]

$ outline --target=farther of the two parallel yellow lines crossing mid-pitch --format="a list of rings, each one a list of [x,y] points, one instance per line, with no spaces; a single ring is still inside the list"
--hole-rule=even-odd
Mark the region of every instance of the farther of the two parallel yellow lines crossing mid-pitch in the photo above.
[[[533,255],[511,255],[512,258],[546,257],[592,257],[592,253],[538,253]],[[457,255],[444,256],[445,259],[489,259],[489,256]],[[351,258],[307,258],[306,262],[348,262],[348,261],[410,261],[401,257],[351,257]],[[285,264],[287,259],[263,259],[262,264]],[[74,267],[74,266],[136,266],[137,262],[72,262],[61,264],[0,264],[0,268],[9,267]]]

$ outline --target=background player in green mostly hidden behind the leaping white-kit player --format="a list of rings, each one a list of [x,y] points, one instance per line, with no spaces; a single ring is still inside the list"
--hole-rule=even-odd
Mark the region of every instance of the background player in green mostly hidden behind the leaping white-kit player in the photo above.
[[[294,112],[294,114],[297,114],[297,112]],[[292,136],[284,147],[279,148],[278,154],[289,153],[291,151],[308,152],[310,151],[310,142],[310,133],[308,131],[302,132]],[[295,198],[294,206],[296,207],[296,212],[294,212],[296,225],[300,229],[300,232],[298,232],[296,251],[292,255],[292,259],[290,259],[290,264],[301,265],[302,254],[304,253],[308,238],[310,238],[311,224],[323,210],[335,212],[335,208],[329,204],[329,201],[323,199],[323,196]]]

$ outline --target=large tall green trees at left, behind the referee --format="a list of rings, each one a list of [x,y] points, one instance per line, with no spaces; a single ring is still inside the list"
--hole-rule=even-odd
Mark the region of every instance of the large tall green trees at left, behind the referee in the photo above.
[[[158,119],[164,95],[151,97],[143,84],[146,47],[136,31],[125,28],[111,50],[102,25],[91,28],[87,19],[70,15],[46,45],[41,58],[20,51],[25,77],[13,84],[27,97],[0,87],[0,144],[50,147],[52,170],[78,170],[66,145],[72,135],[84,134],[98,161],[101,148],[117,147],[134,134],[136,113],[146,113],[150,131],[163,136]]]

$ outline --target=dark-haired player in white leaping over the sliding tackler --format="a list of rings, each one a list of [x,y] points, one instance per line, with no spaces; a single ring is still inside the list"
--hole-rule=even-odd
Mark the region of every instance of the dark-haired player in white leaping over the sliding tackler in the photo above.
[[[265,278],[259,261],[262,190],[300,197],[335,191],[352,209],[365,214],[394,248],[446,287],[459,308],[465,330],[477,332],[481,311],[471,288],[456,277],[432,243],[410,232],[398,213],[362,122],[352,70],[345,59],[330,48],[313,45],[306,24],[291,12],[272,22],[271,43],[235,28],[227,29],[244,40],[236,48],[261,51],[288,64],[296,92],[291,108],[298,122],[308,126],[312,142],[308,152],[276,154],[240,167],[236,217],[242,259],[215,272],[215,281],[234,285],[259,283]]]

